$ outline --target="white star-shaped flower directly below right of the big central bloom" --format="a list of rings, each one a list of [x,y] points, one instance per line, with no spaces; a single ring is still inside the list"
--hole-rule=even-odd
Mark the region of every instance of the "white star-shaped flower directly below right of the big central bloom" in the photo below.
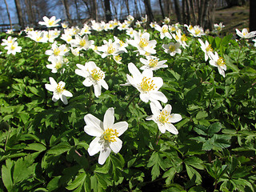
[[[172,108],[170,104],[167,104],[163,110],[159,110],[153,103],[150,103],[150,108],[153,115],[147,117],[146,120],[153,120],[157,123],[158,129],[162,134],[164,134],[166,130],[170,131],[172,134],[178,134],[178,130],[172,123],[181,121],[182,116],[180,114],[171,114]]]

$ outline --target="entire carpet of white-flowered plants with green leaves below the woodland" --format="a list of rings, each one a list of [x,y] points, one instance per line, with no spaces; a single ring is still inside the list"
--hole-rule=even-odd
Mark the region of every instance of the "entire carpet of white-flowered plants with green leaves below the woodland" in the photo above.
[[[256,33],[39,24],[0,34],[2,191],[256,189]]]

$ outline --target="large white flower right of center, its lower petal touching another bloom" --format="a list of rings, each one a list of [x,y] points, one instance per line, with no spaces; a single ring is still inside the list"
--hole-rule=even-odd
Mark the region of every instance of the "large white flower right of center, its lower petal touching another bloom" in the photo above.
[[[128,83],[125,85],[134,86],[140,92],[139,97],[142,99],[142,102],[154,102],[159,109],[162,109],[159,101],[168,101],[166,96],[162,94],[162,92],[158,91],[163,85],[162,78],[153,77],[152,70],[143,70],[141,74],[132,62],[128,64],[128,69],[132,76],[126,74]]]

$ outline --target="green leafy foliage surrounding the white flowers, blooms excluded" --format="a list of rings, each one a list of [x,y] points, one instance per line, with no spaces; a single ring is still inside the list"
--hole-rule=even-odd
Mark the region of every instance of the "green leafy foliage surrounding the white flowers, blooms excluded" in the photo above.
[[[202,36],[226,62],[226,77],[205,61],[198,38],[187,35],[182,54],[170,56],[162,44],[174,39],[159,38],[147,30],[159,61],[167,68],[154,71],[164,85],[172,113],[181,114],[174,123],[178,134],[160,134],[149,103],[126,83],[127,65],[142,66],[127,46],[122,64],[102,58],[94,50],[84,56],[66,55],[63,73],[53,74],[46,65],[51,43],[36,43],[24,34],[18,38],[22,52],[6,54],[0,46],[0,166],[1,191],[255,191],[256,154],[256,50],[250,42],[236,41],[232,34]],[[92,30],[96,46],[114,36],[130,38],[124,30]],[[6,34],[1,34],[7,38]],[[58,43],[64,44],[61,38]],[[84,78],[74,73],[76,64],[94,61],[106,74],[109,90],[96,98]],[[66,82],[72,94],[68,105],[53,102],[46,90],[49,77]],[[166,104],[162,103],[162,106]],[[128,130],[120,138],[122,150],[113,152],[104,165],[98,154],[87,152],[92,137],[83,128],[84,116],[99,119],[110,107],[115,122],[126,121]]]

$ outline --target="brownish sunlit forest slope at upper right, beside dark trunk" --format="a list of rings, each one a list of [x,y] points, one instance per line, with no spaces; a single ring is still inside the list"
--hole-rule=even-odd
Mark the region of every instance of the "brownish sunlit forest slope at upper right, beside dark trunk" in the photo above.
[[[223,32],[235,33],[235,29],[249,28],[249,6],[234,6],[215,10],[215,23],[223,22]]]

